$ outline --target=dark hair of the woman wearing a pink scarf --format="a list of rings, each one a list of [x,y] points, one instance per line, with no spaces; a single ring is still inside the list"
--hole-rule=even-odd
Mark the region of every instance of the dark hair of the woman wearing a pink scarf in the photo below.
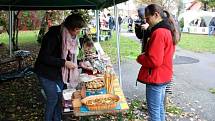
[[[85,27],[86,23],[80,14],[71,14],[64,20],[63,25],[67,29],[75,29]]]

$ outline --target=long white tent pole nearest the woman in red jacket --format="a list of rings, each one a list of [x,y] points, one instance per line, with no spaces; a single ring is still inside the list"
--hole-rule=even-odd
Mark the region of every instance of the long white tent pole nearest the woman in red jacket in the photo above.
[[[118,60],[118,71],[119,71],[119,84],[122,88],[122,74],[121,74],[121,63],[120,63],[120,32],[119,32],[119,22],[118,22],[118,8],[114,0],[114,16],[116,25],[116,42],[117,42],[117,60]]]

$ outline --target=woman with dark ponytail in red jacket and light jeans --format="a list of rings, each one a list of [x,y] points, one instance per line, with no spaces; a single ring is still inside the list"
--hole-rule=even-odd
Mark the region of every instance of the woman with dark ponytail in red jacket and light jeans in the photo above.
[[[149,24],[150,38],[145,53],[137,57],[142,65],[138,81],[146,84],[146,101],[150,121],[165,121],[164,97],[166,85],[173,74],[173,26],[157,4],[145,8],[145,19]]]

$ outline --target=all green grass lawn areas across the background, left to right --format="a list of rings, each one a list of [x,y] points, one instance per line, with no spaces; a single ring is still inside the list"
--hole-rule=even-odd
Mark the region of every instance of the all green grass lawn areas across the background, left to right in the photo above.
[[[20,31],[19,44],[37,43],[38,31]],[[8,44],[8,34],[0,34],[0,43]],[[117,60],[117,44],[116,34],[113,32],[113,37],[108,41],[102,41],[101,46],[104,51],[111,57],[112,62]],[[181,48],[195,52],[212,52],[215,53],[215,36],[197,35],[182,33],[182,38],[179,43]],[[133,41],[128,37],[120,37],[120,54],[121,59],[136,59],[140,53],[140,43]]]

